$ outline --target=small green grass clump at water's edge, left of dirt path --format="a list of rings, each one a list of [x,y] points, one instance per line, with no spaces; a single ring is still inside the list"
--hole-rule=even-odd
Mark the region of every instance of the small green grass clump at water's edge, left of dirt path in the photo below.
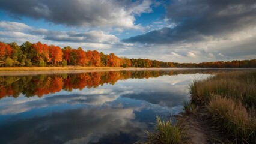
[[[180,126],[172,125],[172,119],[168,121],[162,120],[159,116],[156,116],[156,125],[154,125],[153,131],[146,131],[147,139],[141,143],[166,143],[175,144],[181,139],[183,131],[180,130]]]

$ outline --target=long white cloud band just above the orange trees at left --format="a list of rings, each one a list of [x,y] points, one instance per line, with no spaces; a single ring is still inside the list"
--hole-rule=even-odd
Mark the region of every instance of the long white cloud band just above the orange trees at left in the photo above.
[[[92,30],[87,32],[51,31],[42,28],[33,28],[24,23],[0,21],[0,37],[8,42],[16,41],[55,41],[66,43],[79,43],[78,47],[86,46],[93,49],[108,49],[112,44],[119,43],[119,39],[104,31]],[[67,46],[67,45],[65,45]]]

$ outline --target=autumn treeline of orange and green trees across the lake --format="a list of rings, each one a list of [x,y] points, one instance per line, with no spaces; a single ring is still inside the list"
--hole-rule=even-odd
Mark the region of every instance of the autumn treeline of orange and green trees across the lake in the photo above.
[[[30,43],[26,41],[18,46],[17,43],[0,42],[0,67],[47,67],[67,65],[86,66],[86,67],[142,67],[142,68],[168,68],[168,67],[187,67],[187,68],[254,68],[256,59],[243,61],[217,61],[201,63],[177,63],[163,62],[150,59],[129,59],[120,58],[114,53],[105,55],[97,50],[87,50],[86,52],[79,47],[72,47]]]

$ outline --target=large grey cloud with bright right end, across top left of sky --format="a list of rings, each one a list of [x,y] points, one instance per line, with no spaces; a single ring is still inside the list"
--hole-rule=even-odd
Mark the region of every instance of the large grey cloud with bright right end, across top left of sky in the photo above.
[[[151,13],[150,0],[0,0],[0,9],[13,17],[31,17],[67,26],[136,28],[135,16]]]

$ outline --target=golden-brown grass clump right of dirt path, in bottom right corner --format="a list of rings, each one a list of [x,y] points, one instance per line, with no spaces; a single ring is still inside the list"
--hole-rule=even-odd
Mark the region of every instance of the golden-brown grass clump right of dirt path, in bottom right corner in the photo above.
[[[241,101],[216,95],[210,100],[208,109],[220,131],[236,137],[236,142],[256,143],[255,115],[249,113]]]

